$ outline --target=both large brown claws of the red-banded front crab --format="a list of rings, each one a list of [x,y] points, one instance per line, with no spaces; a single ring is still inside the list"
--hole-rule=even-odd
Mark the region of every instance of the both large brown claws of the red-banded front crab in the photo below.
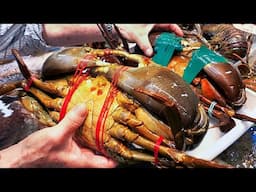
[[[91,59],[86,56],[92,56]],[[122,67],[108,63],[106,57],[118,57],[137,66],[123,71],[117,86],[135,98],[152,114],[171,127],[178,149],[194,148],[202,140],[208,127],[207,115],[199,110],[199,100],[190,86],[177,74],[159,66],[149,58],[120,50],[68,48],[50,56],[43,66],[43,77],[74,71],[79,62],[86,61],[94,75],[104,75],[113,80]],[[52,70],[51,70],[52,68]],[[189,145],[185,143],[188,141]]]

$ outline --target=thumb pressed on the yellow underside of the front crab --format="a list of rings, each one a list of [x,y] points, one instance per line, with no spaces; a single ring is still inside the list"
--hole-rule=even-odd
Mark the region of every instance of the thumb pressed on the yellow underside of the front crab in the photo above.
[[[57,125],[63,137],[72,135],[83,124],[87,115],[88,110],[84,103],[71,109]]]

